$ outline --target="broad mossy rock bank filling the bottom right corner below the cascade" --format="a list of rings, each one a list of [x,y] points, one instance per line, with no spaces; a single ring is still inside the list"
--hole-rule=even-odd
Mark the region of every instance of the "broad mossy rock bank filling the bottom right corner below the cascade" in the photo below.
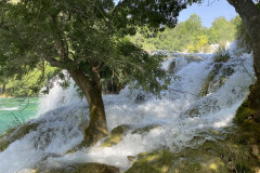
[[[198,148],[178,154],[168,149],[143,152],[127,173],[255,172],[260,165],[260,147],[242,145],[236,137],[230,134],[225,141],[207,141]]]

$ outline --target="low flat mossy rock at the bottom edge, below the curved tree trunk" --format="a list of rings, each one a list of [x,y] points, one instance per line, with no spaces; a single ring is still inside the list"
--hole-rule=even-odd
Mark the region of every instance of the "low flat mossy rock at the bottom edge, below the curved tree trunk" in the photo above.
[[[76,163],[60,168],[38,165],[37,170],[40,173],[119,173],[118,168],[101,163]]]

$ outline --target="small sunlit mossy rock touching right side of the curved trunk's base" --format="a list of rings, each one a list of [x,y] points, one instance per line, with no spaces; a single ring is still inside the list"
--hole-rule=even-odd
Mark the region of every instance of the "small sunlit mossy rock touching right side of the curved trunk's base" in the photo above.
[[[130,129],[131,127],[128,124],[119,125],[112,130],[110,134],[106,137],[106,139],[101,144],[101,147],[112,147],[113,145],[118,144],[125,133]]]

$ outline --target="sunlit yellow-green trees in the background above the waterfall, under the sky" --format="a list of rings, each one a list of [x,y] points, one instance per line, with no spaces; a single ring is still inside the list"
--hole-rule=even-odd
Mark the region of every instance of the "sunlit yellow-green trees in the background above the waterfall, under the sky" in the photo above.
[[[231,21],[225,17],[217,17],[210,28],[202,25],[198,15],[179,23],[177,27],[167,27],[164,31],[152,32],[150,28],[139,29],[139,32],[130,37],[131,41],[141,44],[145,50],[166,50],[180,52],[210,52],[210,44],[225,45],[235,39],[236,28],[240,23],[237,16]]]

